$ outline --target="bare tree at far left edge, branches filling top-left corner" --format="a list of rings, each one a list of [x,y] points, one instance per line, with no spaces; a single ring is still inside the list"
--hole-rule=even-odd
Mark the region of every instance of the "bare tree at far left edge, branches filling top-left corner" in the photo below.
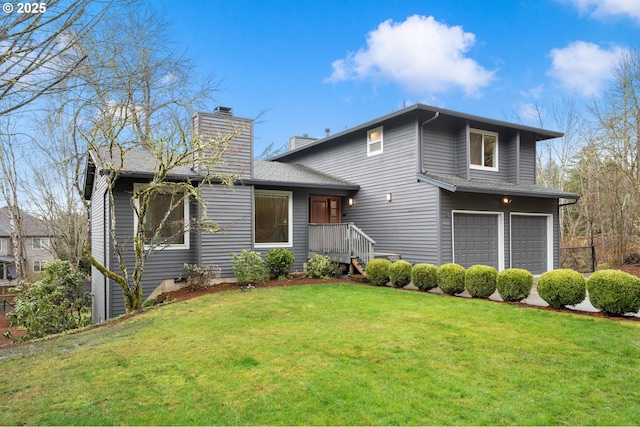
[[[108,3],[92,0],[19,3],[0,16],[0,193],[9,208],[16,276],[24,277],[24,242],[20,215],[20,119],[16,113],[44,96],[67,90],[65,80],[85,60],[78,42],[95,25]],[[14,6],[12,3],[6,5]],[[5,10],[6,12],[6,10]],[[29,13],[24,13],[29,12]],[[93,12],[97,14],[92,15]],[[24,123],[24,122],[23,122]]]

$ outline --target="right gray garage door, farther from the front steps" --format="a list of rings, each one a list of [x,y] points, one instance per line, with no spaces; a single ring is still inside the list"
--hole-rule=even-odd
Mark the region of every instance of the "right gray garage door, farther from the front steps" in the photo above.
[[[534,274],[547,271],[547,217],[511,217],[511,266]]]

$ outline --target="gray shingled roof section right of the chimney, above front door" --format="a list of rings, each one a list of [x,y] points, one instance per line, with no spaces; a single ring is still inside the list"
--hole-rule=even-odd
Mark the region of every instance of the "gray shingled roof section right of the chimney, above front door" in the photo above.
[[[271,161],[253,162],[253,184],[287,187],[323,187],[356,191],[359,185],[307,166]]]

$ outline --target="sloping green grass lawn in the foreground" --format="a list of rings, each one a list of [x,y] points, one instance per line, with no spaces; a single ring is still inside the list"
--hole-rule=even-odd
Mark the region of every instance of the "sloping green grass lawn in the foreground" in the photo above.
[[[639,323],[391,288],[211,294],[0,358],[0,425],[640,424]]]

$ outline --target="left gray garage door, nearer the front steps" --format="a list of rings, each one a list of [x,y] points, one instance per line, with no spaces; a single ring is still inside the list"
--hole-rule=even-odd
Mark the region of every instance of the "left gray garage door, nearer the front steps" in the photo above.
[[[454,259],[470,267],[485,264],[498,268],[498,216],[454,214]]]

